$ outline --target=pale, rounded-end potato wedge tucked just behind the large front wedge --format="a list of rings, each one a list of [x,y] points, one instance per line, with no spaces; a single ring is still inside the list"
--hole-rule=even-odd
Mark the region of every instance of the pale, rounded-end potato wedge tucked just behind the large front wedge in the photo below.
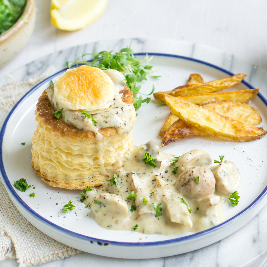
[[[201,106],[245,124],[256,125],[262,122],[261,115],[257,109],[248,104],[228,100],[214,101]]]

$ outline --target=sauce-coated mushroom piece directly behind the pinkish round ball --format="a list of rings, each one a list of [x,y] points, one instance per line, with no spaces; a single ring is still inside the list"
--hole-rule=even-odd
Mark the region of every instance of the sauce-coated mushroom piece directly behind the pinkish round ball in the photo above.
[[[211,156],[205,151],[194,149],[179,157],[176,166],[179,166],[177,175],[181,174],[186,167],[206,167],[211,166]]]

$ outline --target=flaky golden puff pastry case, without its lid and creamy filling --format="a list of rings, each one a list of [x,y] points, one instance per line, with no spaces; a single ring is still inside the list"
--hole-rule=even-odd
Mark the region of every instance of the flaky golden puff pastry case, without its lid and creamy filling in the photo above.
[[[122,90],[123,101],[132,103],[132,92]],[[82,131],[53,116],[54,108],[44,91],[35,111],[37,129],[33,136],[32,167],[36,175],[54,187],[85,189],[103,184],[108,176],[99,174],[96,164],[95,133]],[[126,158],[132,148],[130,134],[118,134],[113,127],[100,129],[103,135],[103,159],[106,170],[113,170],[117,159]]]

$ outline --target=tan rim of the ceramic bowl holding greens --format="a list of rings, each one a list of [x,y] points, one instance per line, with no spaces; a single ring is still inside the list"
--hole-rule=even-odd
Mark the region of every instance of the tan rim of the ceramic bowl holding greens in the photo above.
[[[0,34],[0,44],[2,44],[7,39],[9,39],[11,36],[16,34],[23,26],[27,25],[30,17],[34,14],[34,11],[35,11],[34,0],[27,0],[24,11],[20,15],[18,20],[15,22],[15,24],[11,26],[11,28],[6,30],[3,34]],[[22,19],[22,16],[24,16],[23,19]]]

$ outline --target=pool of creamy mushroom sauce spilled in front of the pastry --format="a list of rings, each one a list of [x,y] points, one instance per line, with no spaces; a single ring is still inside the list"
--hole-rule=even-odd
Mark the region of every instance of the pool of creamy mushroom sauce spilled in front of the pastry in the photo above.
[[[157,167],[144,164],[144,152],[152,155]],[[95,221],[106,229],[133,230],[138,225],[135,231],[140,233],[165,235],[198,232],[223,222],[223,205],[236,184],[232,188],[234,183],[227,184],[227,194],[215,190],[213,173],[221,166],[212,166],[204,151],[192,150],[171,165],[173,159],[174,155],[160,151],[156,141],[135,146],[116,172],[117,186],[106,182],[86,192],[84,203]],[[237,169],[224,170],[232,179],[237,177]],[[136,197],[127,199],[131,191]]]

